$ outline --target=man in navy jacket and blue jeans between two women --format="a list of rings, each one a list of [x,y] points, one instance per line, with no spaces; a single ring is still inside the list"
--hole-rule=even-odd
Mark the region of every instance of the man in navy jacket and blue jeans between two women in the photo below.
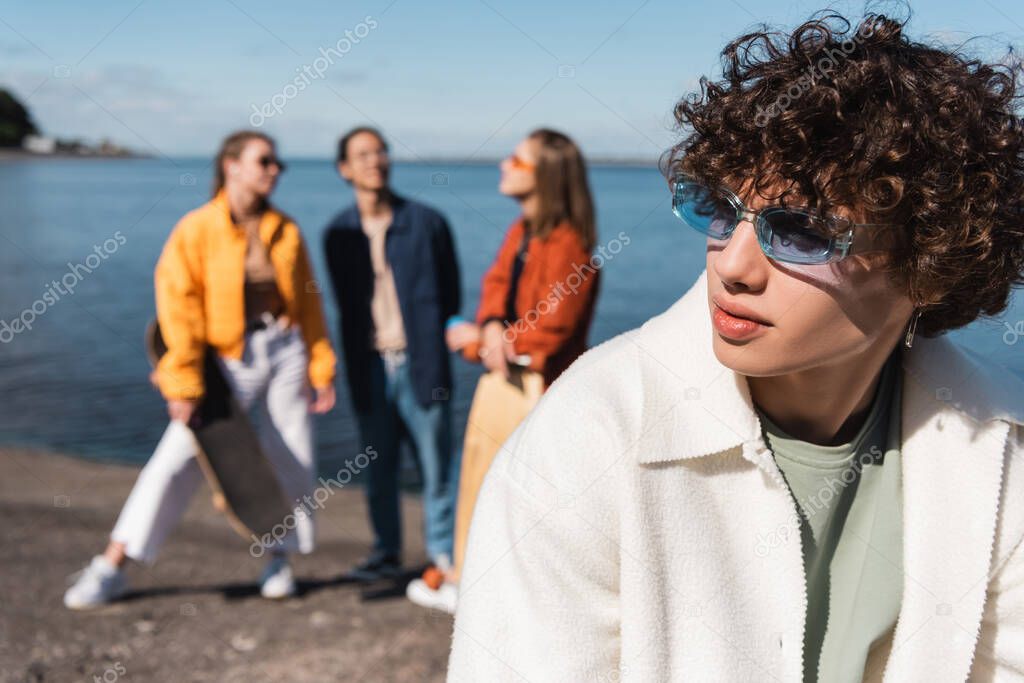
[[[445,321],[459,311],[459,264],[444,217],[395,195],[388,147],[359,127],[338,142],[338,173],[355,204],[325,234],[327,263],[341,312],[352,405],[370,451],[367,502],[374,547],[348,575],[359,581],[401,569],[399,434],[408,434],[423,473],[427,554],[452,558],[458,472],[452,462],[452,369]],[[376,455],[375,455],[376,454]]]

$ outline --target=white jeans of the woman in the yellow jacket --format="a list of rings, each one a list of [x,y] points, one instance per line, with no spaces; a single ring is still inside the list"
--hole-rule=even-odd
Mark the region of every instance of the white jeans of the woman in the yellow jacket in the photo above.
[[[246,336],[241,360],[220,359],[234,396],[255,418],[255,427],[282,488],[295,501],[296,514],[282,520],[288,532],[273,550],[309,553],[313,521],[301,499],[313,490],[316,476],[312,419],[306,380],[306,348],[297,327],[271,324]],[[142,468],[118,517],[111,539],[123,543],[133,560],[152,563],[161,545],[184,514],[203,478],[191,431],[172,421]]]

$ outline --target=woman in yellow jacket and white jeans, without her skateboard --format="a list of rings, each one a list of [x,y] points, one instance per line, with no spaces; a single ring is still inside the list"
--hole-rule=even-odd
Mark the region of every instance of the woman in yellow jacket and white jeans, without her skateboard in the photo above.
[[[269,203],[284,164],[273,140],[255,131],[228,136],[217,155],[213,199],[172,231],[156,270],[157,317],[167,353],[154,374],[171,422],[125,503],[106,551],[65,594],[84,609],[126,588],[126,558],[153,562],[199,485],[198,445],[187,424],[204,394],[206,349],[216,350],[236,398],[257,409],[259,433],[285,494],[312,493],[310,413],[334,407],[335,355],[299,228]],[[310,391],[311,387],[311,391]],[[295,592],[288,563],[313,547],[312,517],[270,548],[264,597]]]

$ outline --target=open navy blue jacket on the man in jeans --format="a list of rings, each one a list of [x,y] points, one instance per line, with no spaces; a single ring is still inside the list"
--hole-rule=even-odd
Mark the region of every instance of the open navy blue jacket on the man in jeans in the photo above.
[[[384,251],[394,273],[406,329],[413,388],[421,405],[447,400],[452,367],[444,344],[444,323],[459,312],[459,262],[447,221],[430,207],[393,197],[391,226]],[[324,234],[327,266],[341,313],[341,340],[352,407],[370,411],[370,362],[374,323],[370,301],[374,269],[370,241],[353,204],[331,221]]]

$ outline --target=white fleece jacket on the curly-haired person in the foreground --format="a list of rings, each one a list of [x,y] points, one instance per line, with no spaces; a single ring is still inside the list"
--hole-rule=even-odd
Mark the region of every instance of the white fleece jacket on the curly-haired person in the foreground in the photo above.
[[[511,436],[449,681],[802,680],[796,507],[711,335],[702,273]],[[1024,383],[944,337],[902,372],[903,603],[864,680],[1024,681]]]

